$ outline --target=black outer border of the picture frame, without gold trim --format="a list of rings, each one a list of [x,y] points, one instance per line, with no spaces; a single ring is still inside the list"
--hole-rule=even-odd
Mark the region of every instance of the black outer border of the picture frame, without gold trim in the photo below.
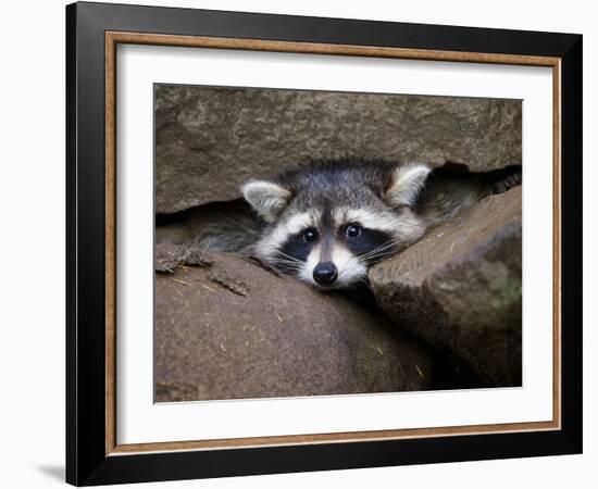
[[[561,59],[561,429],[105,455],[104,33]],[[581,35],[123,4],[66,7],[66,481],[77,486],[581,453]]]

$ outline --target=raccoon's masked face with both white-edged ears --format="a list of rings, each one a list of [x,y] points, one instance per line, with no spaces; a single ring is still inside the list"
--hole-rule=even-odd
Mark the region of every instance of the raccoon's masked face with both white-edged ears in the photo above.
[[[249,181],[245,199],[266,222],[254,253],[321,289],[367,280],[367,268],[425,230],[412,206],[429,168],[341,164]]]

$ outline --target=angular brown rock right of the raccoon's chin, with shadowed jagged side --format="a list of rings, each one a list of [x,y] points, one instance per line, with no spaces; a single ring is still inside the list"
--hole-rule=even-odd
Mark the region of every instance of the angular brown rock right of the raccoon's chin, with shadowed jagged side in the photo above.
[[[521,191],[484,199],[370,271],[395,324],[491,386],[522,379]]]

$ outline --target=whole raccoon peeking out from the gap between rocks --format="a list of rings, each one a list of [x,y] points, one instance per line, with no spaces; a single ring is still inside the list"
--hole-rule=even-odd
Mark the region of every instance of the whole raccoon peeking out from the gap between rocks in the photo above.
[[[521,184],[521,166],[465,168],[346,158],[250,180],[242,196],[263,222],[250,251],[323,290],[365,284],[374,263],[484,197]]]

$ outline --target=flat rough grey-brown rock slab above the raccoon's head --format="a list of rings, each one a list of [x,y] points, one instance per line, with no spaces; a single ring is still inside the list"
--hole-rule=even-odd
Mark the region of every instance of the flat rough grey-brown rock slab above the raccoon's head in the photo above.
[[[159,85],[155,210],[236,199],[309,159],[521,164],[521,113],[515,100]]]

